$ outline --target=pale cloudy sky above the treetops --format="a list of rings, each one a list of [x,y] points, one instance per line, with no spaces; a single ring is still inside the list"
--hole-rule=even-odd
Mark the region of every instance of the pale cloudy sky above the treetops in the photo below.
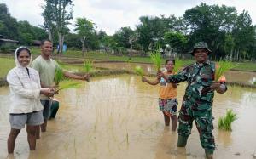
[[[41,6],[44,0],[0,0],[6,3],[9,13],[17,20],[27,20],[33,26],[40,26],[44,19]],[[97,30],[113,35],[121,27],[134,29],[143,15],[168,17],[182,16],[187,9],[200,3],[218,4],[236,7],[238,14],[247,10],[256,25],[256,0],[73,0],[73,20],[69,28],[73,31],[75,19],[85,17],[96,23]]]

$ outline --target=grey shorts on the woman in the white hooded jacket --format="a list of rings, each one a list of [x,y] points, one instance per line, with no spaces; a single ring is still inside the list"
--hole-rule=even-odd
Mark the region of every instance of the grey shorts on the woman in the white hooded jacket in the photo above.
[[[37,126],[44,123],[43,111],[34,111],[25,114],[10,114],[9,123],[11,128],[21,129],[26,125]]]

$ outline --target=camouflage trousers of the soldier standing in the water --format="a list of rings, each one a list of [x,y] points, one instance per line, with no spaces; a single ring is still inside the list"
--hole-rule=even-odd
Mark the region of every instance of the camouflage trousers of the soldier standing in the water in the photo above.
[[[193,104],[194,103],[194,104]],[[208,151],[215,150],[214,137],[212,135],[212,104],[200,104],[189,100],[183,100],[179,111],[177,133],[189,137],[192,122],[195,120],[196,128],[200,134],[201,146]]]

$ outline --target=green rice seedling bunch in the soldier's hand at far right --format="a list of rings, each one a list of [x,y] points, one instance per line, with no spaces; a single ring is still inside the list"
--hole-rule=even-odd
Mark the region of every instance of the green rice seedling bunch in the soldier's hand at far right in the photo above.
[[[218,81],[220,77],[224,75],[224,72],[230,71],[235,68],[237,65],[232,64],[230,60],[220,60],[218,61],[218,65],[216,65],[215,70],[215,81]]]

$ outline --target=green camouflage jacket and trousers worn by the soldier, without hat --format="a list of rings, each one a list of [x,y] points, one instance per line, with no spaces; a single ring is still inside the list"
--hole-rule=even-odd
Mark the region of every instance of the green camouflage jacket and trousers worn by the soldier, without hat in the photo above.
[[[192,122],[195,120],[202,147],[212,152],[215,149],[212,135],[212,99],[214,91],[211,90],[210,86],[214,80],[214,71],[215,64],[207,60],[203,64],[189,65],[177,75],[168,77],[168,82],[188,82],[178,116],[178,134],[189,137]]]

